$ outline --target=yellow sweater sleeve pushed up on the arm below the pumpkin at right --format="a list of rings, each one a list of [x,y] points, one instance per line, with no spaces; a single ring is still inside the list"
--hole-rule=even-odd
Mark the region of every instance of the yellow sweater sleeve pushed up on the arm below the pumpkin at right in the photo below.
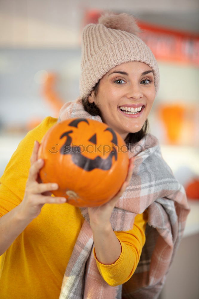
[[[101,264],[94,257],[97,268],[103,279],[110,286],[118,286],[131,278],[140,260],[142,248],[145,243],[145,228],[147,223],[147,210],[135,217],[133,228],[129,231],[119,231],[115,234],[120,241],[122,252],[118,260],[112,265]]]

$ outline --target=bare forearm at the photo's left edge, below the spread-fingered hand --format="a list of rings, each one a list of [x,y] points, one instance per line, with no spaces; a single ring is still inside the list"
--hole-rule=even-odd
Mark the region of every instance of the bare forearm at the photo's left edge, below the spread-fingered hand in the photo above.
[[[0,217],[0,256],[10,247],[31,220],[22,219],[20,205]]]

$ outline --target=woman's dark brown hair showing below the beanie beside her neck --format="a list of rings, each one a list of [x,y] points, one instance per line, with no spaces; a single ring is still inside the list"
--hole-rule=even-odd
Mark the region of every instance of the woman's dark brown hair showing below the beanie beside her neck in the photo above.
[[[96,85],[94,86],[93,90],[94,90],[94,98],[97,97],[97,93],[98,93],[98,89],[99,89],[99,82],[100,80],[96,83]],[[102,118],[101,115],[101,111],[100,109],[95,105],[95,103],[89,103],[88,101],[88,97],[82,97],[82,103],[84,106],[84,109],[86,112],[88,112],[89,114],[96,116],[99,115]],[[129,144],[135,144],[138,141],[140,141],[143,137],[146,136],[147,131],[148,131],[148,126],[149,126],[149,122],[148,119],[146,119],[142,129],[136,133],[128,133],[128,135],[125,138],[125,143],[126,145],[129,146]]]

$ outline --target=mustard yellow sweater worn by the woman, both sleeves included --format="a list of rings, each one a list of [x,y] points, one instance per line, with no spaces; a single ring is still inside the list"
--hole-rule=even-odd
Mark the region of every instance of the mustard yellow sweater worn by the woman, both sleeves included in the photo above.
[[[19,143],[1,177],[0,217],[23,200],[35,140],[41,141],[57,122],[47,117]],[[115,232],[122,253],[113,265],[97,267],[110,285],[127,281],[135,271],[145,243],[147,214],[137,215],[130,231]],[[0,258],[1,299],[56,299],[66,266],[83,224],[79,210],[68,203],[45,204],[41,213]]]

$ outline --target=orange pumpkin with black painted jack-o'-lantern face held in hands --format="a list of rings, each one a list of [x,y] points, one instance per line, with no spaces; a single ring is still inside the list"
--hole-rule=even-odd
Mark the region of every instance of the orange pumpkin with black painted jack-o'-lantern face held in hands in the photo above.
[[[71,118],[51,127],[41,141],[38,158],[44,159],[40,178],[56,182],[55,196],[77,207],[108,202],[128,172],[128,149],[121,136],[105,123]]]

